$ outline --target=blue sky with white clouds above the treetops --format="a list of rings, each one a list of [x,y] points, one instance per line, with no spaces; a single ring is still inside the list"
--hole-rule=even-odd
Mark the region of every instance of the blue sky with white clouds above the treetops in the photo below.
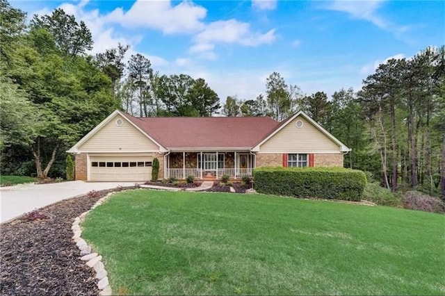
[[[254,99],[280,72],[302,92],[358,90],[379,63],[445,44],[445,1],[11,1],[33,14],[61,7],[92,31],[92,54],[130,44],[160,74],[206,79]]]

